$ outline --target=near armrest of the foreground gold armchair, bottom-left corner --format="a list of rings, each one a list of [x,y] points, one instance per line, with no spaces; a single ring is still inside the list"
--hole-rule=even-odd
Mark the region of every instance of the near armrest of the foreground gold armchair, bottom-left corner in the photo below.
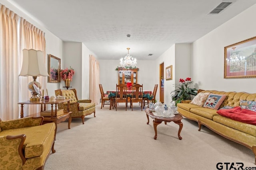
[[[26,135],[17,136],[2,136],[0,137],[0,150],[1,150],[1,169],[22,169],[25,164],[26,158],[23,152],[23,145]]]

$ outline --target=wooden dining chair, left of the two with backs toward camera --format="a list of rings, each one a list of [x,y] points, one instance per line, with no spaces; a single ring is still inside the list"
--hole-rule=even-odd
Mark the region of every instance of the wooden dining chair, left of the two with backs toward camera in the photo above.
[[[125,103],[127,110],[127,86],[125,84],[116,84],[115,107],[117,110],[118,103]]]

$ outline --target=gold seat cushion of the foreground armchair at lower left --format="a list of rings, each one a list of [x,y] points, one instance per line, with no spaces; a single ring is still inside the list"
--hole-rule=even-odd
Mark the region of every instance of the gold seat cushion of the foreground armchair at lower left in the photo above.
[[[54,137],[55,124],[46,123],[40,126],[24,127],[19,129],[9,129],[0,132],[1,136],[4,135],[26,135],[24,143],[25,158],[32,158],[40,156],[43,152],[45,145],[51,143],[52,135]]]

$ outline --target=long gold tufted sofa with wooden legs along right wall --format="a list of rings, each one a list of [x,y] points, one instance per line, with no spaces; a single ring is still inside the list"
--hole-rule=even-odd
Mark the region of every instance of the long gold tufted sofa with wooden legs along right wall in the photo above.
[[[226,95],[220,108],[224,106],[240,106],[241,100],[256,101],[256,94],[245,92],[198,90],[198,93],[199,92]],[[202,125],[205,125],[219,135],[248,147],[255,155],[254,163],[256,164],[256,125],[221,116],[217,113],[218,110],[200,107],[190,104],[190,102],[191,101],[183,101],[182,103],[178,103],[178,112],[188,119],[197,121],[199,126],[198,131],[201,130]]]

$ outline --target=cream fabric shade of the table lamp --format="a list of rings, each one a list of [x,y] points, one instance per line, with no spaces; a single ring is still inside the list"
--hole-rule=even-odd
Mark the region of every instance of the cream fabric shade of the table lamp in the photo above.
[[[42,51],[23,49],[20,76],[49,76],[44,64],[44,53]]]

